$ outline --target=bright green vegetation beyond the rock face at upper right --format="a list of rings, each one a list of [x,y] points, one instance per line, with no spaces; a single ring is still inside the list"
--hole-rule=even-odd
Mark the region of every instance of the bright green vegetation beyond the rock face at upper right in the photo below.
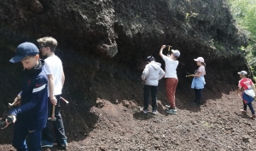
[[[241,50],[245,51],[248,64],[256,69],[256,1],[255,0],[227,0],[232,15],[241,29],[245,30],[249,38],[249,45]],[[254,76],[256,70],[253,70]]]

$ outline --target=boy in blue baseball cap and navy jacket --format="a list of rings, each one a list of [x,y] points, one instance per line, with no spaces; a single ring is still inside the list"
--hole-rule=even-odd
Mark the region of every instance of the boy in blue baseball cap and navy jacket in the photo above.
[[[38,53],[35,44],[23,43],[17,47],[15,57],[9,60],[21,61],[25,73],[22,90],[17,96],[21,96],[20,106],[8,113],[15,123],[12,145],[17,150],[41,150],[41,134],[47,120],[48,79],[43,71],[44,61],[39,60]],[[10,123],[6,124],[7,127]]]

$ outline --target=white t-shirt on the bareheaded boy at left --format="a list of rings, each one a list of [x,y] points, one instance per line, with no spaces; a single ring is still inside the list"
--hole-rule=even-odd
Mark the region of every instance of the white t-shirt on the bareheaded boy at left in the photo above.
[[[56,56],[52,55],[49,56],[44,60],[44,72],[49,75],[52,74],[55,82],[55,90],[54,96],[61,95],[62,84],[61,84],[61,76],[62,76],[62,62],[61,59]],[[49,84],[48,84],[48,96],[49,96]]]

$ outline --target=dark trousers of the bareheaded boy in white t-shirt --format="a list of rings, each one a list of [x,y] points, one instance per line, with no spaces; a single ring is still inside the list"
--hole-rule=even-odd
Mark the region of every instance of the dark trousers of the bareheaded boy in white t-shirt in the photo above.
[[[61,95],[55,96],[57,99],[57,105],[55,106],[55,121],[47,120],[46,127],[43,129],[42,140],[46,140],[48,142],[57,142],[61,143],[63,140],[67,139],[65,135],[64,125],[61,118]],[[52,113],[52,103],[48,98],[48,117],[51,117]],[[51,130],[51,124],[54,125],[55,137],[53,136],[53,131]],[[56,139],[55,139],[56,138]]]

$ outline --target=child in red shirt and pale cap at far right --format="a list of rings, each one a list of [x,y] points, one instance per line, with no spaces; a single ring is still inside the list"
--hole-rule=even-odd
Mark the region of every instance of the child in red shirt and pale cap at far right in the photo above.
[[[251,118],[255,118],[256,114],[253,109],[252,102],[254,101],[255,96],[255,86],[253,81],[250,78],[246,78],[247,72],[241,71],[238,73],[240,75],[241,80],[238,82],[237,95],[241,98],[243,102],[243,109],[241,109],[242,113],[247,113],[247,105],[252,112]],[[240,96],[240,91],[243,90]]]

